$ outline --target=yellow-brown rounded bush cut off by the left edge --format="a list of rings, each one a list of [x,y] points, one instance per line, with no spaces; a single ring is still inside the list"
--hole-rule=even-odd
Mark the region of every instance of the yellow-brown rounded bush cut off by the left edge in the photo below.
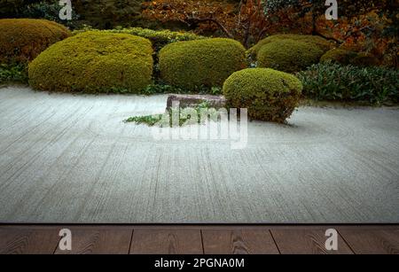
[[[0,19],[0,63],[30,61],[70,35],[66,27],[46,19]]]

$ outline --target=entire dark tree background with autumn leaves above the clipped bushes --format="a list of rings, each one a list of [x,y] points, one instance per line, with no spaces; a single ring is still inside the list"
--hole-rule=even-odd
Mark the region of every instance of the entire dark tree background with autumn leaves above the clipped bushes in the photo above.
[[[321,35],[340,47],[398,66],[399,1],[340,0],[339,19],[325,19],[324,0],[73,0],[74,18],[58,18],[57,0],[0,0],[0,18],[46,18],[71,28],[146,27],[225,36],[246,48],[267,35]]]

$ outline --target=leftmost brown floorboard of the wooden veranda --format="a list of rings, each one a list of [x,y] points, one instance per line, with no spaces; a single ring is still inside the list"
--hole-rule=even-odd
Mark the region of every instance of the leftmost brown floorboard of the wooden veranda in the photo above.
[[[59,245],[58,229],[0,229],[0,254],[52,254]]]

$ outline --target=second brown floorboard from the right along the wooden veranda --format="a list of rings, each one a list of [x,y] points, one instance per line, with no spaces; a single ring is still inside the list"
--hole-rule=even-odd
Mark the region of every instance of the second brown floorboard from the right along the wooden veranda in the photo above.
[[[282,254],[352,254],[348,245],[338,237],[338,251],[325,249],[325,229],[270,229]]]

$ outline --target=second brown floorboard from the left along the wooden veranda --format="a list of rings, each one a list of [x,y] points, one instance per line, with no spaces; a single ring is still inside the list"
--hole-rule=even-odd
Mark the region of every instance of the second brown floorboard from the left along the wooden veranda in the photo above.
[[[72,251],[56,254],[127,254],[132,229],[76,229],[72,231]]]

